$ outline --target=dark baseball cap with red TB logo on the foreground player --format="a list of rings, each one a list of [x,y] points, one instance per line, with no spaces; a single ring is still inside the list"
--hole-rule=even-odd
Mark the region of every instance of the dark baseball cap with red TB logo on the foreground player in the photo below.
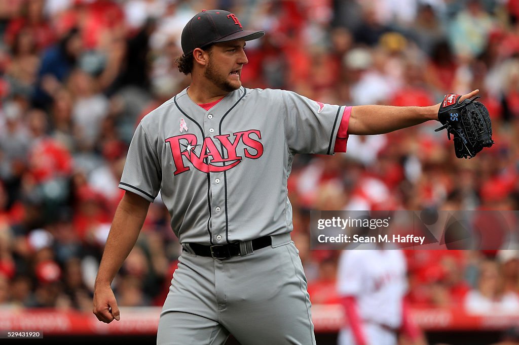
[[[184,26],[182,30],[182,51],[185,55],[193,53],[213,43],[244,39],[250,41],[265,35],[263,31],[243,30],[234,13],[224,10],[202,10]]]

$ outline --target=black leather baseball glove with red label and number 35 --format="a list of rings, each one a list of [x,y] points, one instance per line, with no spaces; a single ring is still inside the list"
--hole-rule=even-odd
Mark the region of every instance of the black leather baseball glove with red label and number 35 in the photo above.
[[[484,147],[490,147],[492,140],[492,124],[487,108],[479,97],[459,102],[461,95],[448,94],[443,98],[438,111],[438,120],[443,124],[435,132],[447,129],[447,138],[454,137],[456,157],[474,157]]]

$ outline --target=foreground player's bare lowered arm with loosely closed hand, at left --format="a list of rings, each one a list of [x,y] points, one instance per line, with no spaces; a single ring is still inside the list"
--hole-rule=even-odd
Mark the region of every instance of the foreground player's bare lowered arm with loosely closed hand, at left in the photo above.
[[[126,192],[117,206],[95,278],[93,313],[99,321],[119,321],[119,308],[110,284],[135,246],[148,207],[149,202],[146,199],[131,192]]]

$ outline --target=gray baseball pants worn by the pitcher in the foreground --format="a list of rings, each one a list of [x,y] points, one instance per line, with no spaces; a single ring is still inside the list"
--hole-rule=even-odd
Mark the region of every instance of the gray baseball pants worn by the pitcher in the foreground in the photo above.
[[[241,345],[316,343],[303,265],[290,234],[227,260],[184,251],[179,261],[157,345],[218,345],[229,333]]]

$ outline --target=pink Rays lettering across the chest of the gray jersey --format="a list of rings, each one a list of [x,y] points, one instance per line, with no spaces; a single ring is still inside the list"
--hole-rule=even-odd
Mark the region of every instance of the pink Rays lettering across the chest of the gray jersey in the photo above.
[[[176,168],[174,175],[188,171],[189,162],[202,172],[221,172],[237,166],[243,157],[258,159],[263,155],[260,131],[248,130],[233,133],[234,140],[232,141],[229,139],[230,136],[230,134],[222,134],[206,137],[202,144],[198,143],[196,135],[190,133],[166,139],[165,142],[170,145]],[[238,152],[240,142],[244,148]],[[218,146],[222,148],[222,152],[218,150]]]

